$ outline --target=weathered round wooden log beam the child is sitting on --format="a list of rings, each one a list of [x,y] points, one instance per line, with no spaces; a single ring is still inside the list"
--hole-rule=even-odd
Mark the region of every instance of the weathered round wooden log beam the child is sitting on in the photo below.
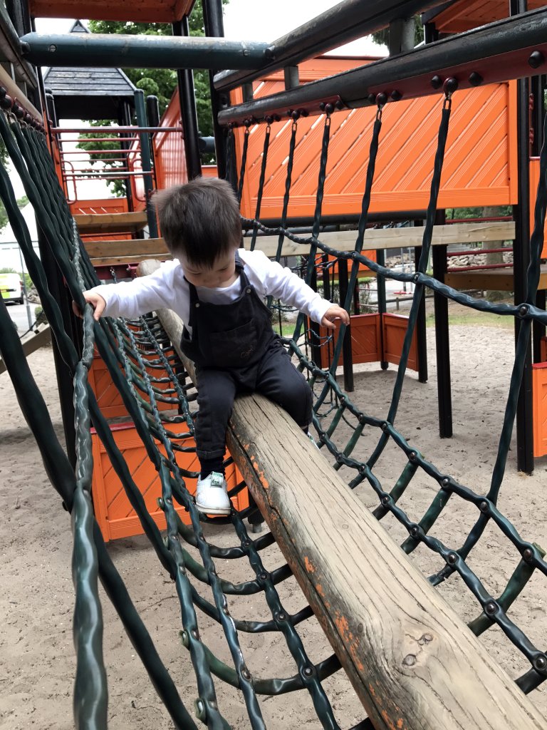
[[[145,261],[139,274],[158,265]],[[182,356],[182,321],[156,313]],[[281,408],[262,396],[236,399],[227,442],[376,730],[545,730],[527,696]]]

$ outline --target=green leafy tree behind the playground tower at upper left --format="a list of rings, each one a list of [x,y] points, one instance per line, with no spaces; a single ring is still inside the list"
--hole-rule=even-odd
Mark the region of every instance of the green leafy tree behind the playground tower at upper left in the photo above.
[[[229,0],[222,0],[223,4],[228,4]],[[201,0],[196,2],[194,9],[189,18],[190,35],[203,36],[205,28],[203,25],[203,8]],[[171,26],[167,23],[133,23],[120,22],[114,20],[90,20],[89,29],[92,33],[104,34],[123,34],[123,35],[159,35],[171,36]],[[166,110],[171,96],[176,88],[176,71],[172,69],[123,69],[128,79],[136,85],[136,88],[142,89],[145,96],[157,96],[160,107],[160,115]],[[213,134],[213,120],[211,114],[211,94],[209,90],[209,74],[205,69],[196,69],[194,71],[195,101],[198,115],[198,131],[203,137],[209,137]],[[91,122],[92,126],[109,126],[117,120],[96,120]],[[91,133],[96,137],[93,142],[79,142],[78,147],[82,150],[105,150],[104,155],[93,155],[90,164],[96,164],[99,161],[105,162],[109,169],[120,166],[120,163],[112,161],[112,157],[116,154],[109,154],[107,150],[115,150],[119,147],[117,142],[101,142],[101,137],[109,136],[107,134]],[[85,137],[90,137],[86,134]],[[212,161],[212,160],[208,160]],[[125,194],[125,184],[122,180],[115,180],[112,185],[112,191],[118,195]]]

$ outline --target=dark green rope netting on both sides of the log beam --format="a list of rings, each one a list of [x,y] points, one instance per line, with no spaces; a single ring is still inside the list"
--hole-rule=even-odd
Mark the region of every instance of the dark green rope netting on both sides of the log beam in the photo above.
[[[443,101],[438,150],[432,175],[432,193],[424,228],[422,255],[416,271],[395,272],[363,256],[363,236],[367,226],[368,205],[373,183],[376,150],[381,131],[379,109],[371,140],[370,164],[363,194],[362,215],[357,230],[353,252],[338,251],[323,244],[320,239],[322,191],[327,168],[327,150],[330,134],[330,116],[325,115],[325,131],[322,142],[322,158],[319,166],[317,207],[314,227],[310,237],[299,237],[286,228],[287,204],[291,187],[292,155],[295,153],[297,120],[292,124],[291,148],[287,163],[287,183],[284,207],[279,228],[266,228],[260,223],[260,199],[266,175],[266,161],[270,128],[266,128],[265,148],[262,156],[262,174],[255,218],[244,220],[244,229],[251,235],[251,245],[256,245],[259,234],[276,234],[279,246],[276,258],[282,255],[284,239],[302,246],[306,279],[311,282],[316,275],[315,262],[324,254],[335,261],[352,263],[346,309],[349,310],[357,269],[366,264],[379,276],[415,285],[408,318],[408,330],[403,354],[397,369],[395,387],[386,418],[376,418],[360,410],[342,391],[335,379],[336,364],[341,355],[344,327],[335,345],[317,342],[317,332],[307,328],[302,315],[298,315],[291,338],[284,338],[295,363],[309,377],[314,391],[314,428],[323,453],[330,458],[335,469],[344,475],[352,489],[358,489],[378,519],[389,518],[394,534],[403,536],[402,547],[414,553],[429,580],[434,585],[450,585],[459,580],[459,588],[465,585],[472,598],[469,626],[476,634],[497,627],[506,637],[507,650],[515,648],[519,653],[520,666],[516,683],[526,693],[537,688],[547,678],[545,645],[537,645],[511,619],[511,604],[524,591],[532,575],[543,581],[547,564],[540,545],[521,537],[511,522],[498,510],[497,499],[503,480],[503,472],[510,447],[511,431],[516,411],[516,399],[529,339],[532,321],[547,323],[543,310],[535,307],[535,291],[538,286],[538,264],[543,245],[543,222],[546,207],[546,153],[541,155],[541,174],[538,201],[535,207],[535,231],[532,235],[532,264],[528,273],[526,300],[519,306],[493,304],[483,299],[473,299],[433,279],[426,273],[427,261],[435,215],[436,196],[440,185],[443,150],[449,126],[450,99]],[[267,532],[252,537],[247,530],[249,522],[260,521],[255,504],[246,510],[232,510],[229,518],[215,519],[214,525],[225,525],[222,535],[212,531],[212,539],[206,539],[208,520],[195,509],[193,497],[187,490],[187,480],[196,472],[182,469],[177,454],[192,452],[195,419],[195,390],[183,368],[176,351],[168,341],[159,320],[153,313],[138,320],[102,318],[93,322],[90,307],[85,307],[82,291],[98,283],[85,249],[79,239],[74,220],[58,184],[53,162],[44,137],[38,131],[20,123],[9,115],[0,115],[0,134],[9,151],[12,164],[23,180],[26,195],[36,212],[39,226],[50,247],[50,255],[66,281],[69,296],[84,312],[81,347],[77,350],[74,340],[66,332],[63,314],[58,301],[49,291],[44,268],[31,245],[26,224],[17,207],[9,176],[0,168],[0,196],[6,206],[9,222],[18,238],[26,260],[28,272],[36,285],[42,307],[55,335],[63,361],[74,374],[74,408],[76,412],[77,467],[71,468],[68,459],[55,437],[53,426],[44,412],[44,403],[31,373],[28,371],[17,334],[13,330],[4,304],[0,304],[1,355],[14,380],[15,389],[36,442],[42,452],[44,466],[54,487],[60,493],[63,504],[71,512],[74,531],[73,575],[76,588],[74,612],[74,644],[77,649],[77,676],[74,688],[74,715],[77,726],[106,728],[107,688],[106,672],[102,657],[101,602],[98,598],[98,580],[120,615],[125,631],[139,653],[160,700],[171,715],[174,726],[195,728],[195,718],[209,728],[224,729],[230,726],[226,711],[230,702],[244,702],[249,726],[260,729],[266,726],[264,696],[282,695],[296,690],[306,690],[309,702],[317,714],[319,726],[328,729],[339,727],[371,728],[364,712],[356,712],[351,702],[340,712],[333,711],[329,692],[337,696],[346,686],[340,664],[330,649],[322,656],[310,657],[306,653],[303,637],[312,629],[311,609],[296,593],[290,568],[280,559],[274,545],[274,537]],[[248,134],[246,139],[248,138]],[[229,149],[233,150],[233,140]],[[243,157],[245,158],[245,153]],[[229,166],[228,166],[229,167]],[[237,189],[241,194],[244,169],[239,174]],[[511,386],[507,398],[505,418],[498,447],[497,460],[492,473],[489,491],[478,493],[467,485],[458,483],[450,475],[440,472],[434,464],[408,442],[395,427],[395,417],[403,388],[411,336],[424,289],[441,293],[459,304],[465,304],[482,312],[495,312],[519,320],[519,337],[513,366]],[[271,303],[272,307],[282,304]],[[329,369],[320,369],[311,359],[311,346],[330,344],[333,350]],[[165,513],[167,530],[163,535],[150,517],[139,488],[131,477],[124,458],[118,449],[109,423],[99,410],[95,395],[88,383],[88,371],[93,352],[100,353],[109,373],[120,391],[125,408],[139,433],[147,457],[160,477],[162,496],[160,507]],[[161,373],[157,377],[154,373]],[[158,409],[160,405],[160,409]],[[189,655],[195,672],[195,690],[188,699],[177,690],[170,673],[163,665],[158,650],[131,597],[105,548],[101,532],[93,518],[90,500],[93,460],[91,458],[90,427],[96,429],[113,469],[120,478],[131,507],[135,510],[150,539],[163,569],[173,580],[179,603],[181,626],[180,641]],[[359,453],[360,456],[357,456]],[[363,458],[361,455],[366,453]],[[385,483],[379,478],[382,465],[389,460],[390,466],[398,465],[395,483]],[[403,509],[406,498],[415,483],[430,485],[431,499],[427,509],[414,514],[412,501]],[[244,488],[238,484],[230,493],[234,496]],[[185,507],[190,525],[182,523],[174,510],[174,504]],[[443,534],[443,510],[459,510],[468,518],[470,525],[462,539],[454,542]],[[464,520],[465,522],[465,520]],[[231,527],[228,527],[231,526]],[[438,527],[441,526],[439,529]],[[487,575],[481,575],[481,539],[486,531],[499,531],[511,546],[513,569],[501,590],[489,589]],[[216,538],[214,536],[217,536]],[[453,536],[452,536],[453,537]],[[218,542],[215,542],[216,541]],[[450,539],[450,541],[449,541]],[[419,549],[418,549],[419,548]],[[221,575],[224,566],[230,579]],[[244,566],[244,568],[233,567]],[[233,575],[241,575],[234,582]],[[287,585],[290,589],[287,591]],[[263,618],[247,615],[246,609],[254,605],[249,596],[263,596]],[[234,610],[237,606],[237,610]],[[469,617],[468,617],[469,618]],[[203,629],[206,627],[207,631]],[[216,627],[216,628],[215,628]],[[203,632],[202,632],[203,629]],[[209,634],[208,634],[209,632]],[[208,635],[224,637],[225,649],[212,650]],[[273,660],[272,666],[290,667],[282,677],[259,677],[252,671],[245,646],[249,637],[256,634],[272,634],[271,650],[283,647],[282,659]],[[544,642],[544,637],[540,637]],[[219,642],[220,643],[220,640]],[[183,651],[183,650],[181,650]],[[336,673],[336,674],[335,674]],[[333,677],[333,675],[335,675]],[[336,683],[341,683],[341,685]],[[228,689],[222,685],[228,685]],[[230,689],[233,688],[233,689]],[[327,689],[326,689],[327,688]],[[327,691],[328,690],[328,691]],[[230,695],[230,692],[232,694]],[[223,694],[225,693],[225,694]],[[228,694],[226,694],[228,693]],[[225,700],[223,705],[220,697]],[[231,699],[227,699],[231,698]],[[234,699],[236,698],[236,699]],[[282,699],[279,701],[282,702]],[[266,703],[268,704],[268,703]],[[228,710],[229,711],[229,710]],[[342,713],[342,716],[341,716]],[[352,715],[352,713],[354,713]],[[352,720],[348,721],[348,716]],[[247,726],[247,725],[245,725]]]

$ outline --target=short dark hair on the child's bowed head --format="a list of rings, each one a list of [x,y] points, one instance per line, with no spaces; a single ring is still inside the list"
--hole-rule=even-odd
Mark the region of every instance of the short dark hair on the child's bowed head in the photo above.
[[[218,256],[237,248],[241,217],[230,183],[219,177],[196,177],[185,185],[154,193],[166,246],[198,266],[212,266]]]

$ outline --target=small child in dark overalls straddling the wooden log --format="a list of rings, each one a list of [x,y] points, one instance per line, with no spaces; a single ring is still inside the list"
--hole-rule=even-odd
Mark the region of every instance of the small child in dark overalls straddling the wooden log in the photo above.
[[[195,504],[203,513],[228,515],[222,461],[236,394],[263,393],[305,433],[311,423],[311,390],[272,329],[263,299],[281,299],[330,329],[337,319],[348,324],[349,315],[261,251],[238,248],[238,202],[225,180],[196,178],[158,191],[154,201],[174,260],[129,283],[96,286],[84,297],[96,320],[166,307],[185,323],[181,349],[194,361],[198,380]]]

